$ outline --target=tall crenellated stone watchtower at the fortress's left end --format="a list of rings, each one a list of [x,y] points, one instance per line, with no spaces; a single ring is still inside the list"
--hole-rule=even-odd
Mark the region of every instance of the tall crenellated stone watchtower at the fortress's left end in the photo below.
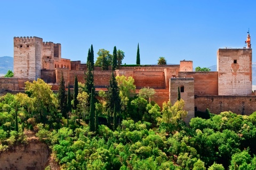
[[[14,77],[37,80],[41,77],[43,39],[14,37]]]

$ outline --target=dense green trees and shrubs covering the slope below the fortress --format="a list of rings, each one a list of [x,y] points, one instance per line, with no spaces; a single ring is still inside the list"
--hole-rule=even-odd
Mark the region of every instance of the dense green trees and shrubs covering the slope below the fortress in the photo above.
[[[26,143],[30,130],[49,145],[62,169],[256,169],[256,112],[207,110],[209,118],[192,118],[188,126],[182,98],[161,109],[148,100],[152,90],[135,96],[132,82],[112,74],[109,92],[99,91],[99,100],[80,84],[69,126],[51,86],[41,79],[26,82],[26,94],[0,97],[0,151]]]

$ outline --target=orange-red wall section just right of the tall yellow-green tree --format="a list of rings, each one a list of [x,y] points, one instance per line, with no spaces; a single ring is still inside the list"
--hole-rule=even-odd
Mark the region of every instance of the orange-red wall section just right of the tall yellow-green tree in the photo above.
[[[134,84],[137,89],[150,87],[153,89],[165,89],[165,75],[163,71],[134,71]]]

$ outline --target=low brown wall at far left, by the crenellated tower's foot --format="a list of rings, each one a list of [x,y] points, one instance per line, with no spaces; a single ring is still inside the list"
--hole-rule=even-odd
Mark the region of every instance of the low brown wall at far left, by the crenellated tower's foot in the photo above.
[[[19,81],[18,78],[0,78],[0,90],[18,91]]]

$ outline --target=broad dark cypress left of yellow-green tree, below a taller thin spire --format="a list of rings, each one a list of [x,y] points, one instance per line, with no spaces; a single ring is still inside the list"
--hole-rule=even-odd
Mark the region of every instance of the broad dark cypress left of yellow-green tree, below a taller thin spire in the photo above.
[[[112,117],[114,116],[113,115],[114,107],[115,107],[116,114],[119,113],[119,111],[121,110],[121,99],[119,97],[119,88],[116,82],[114,72],[112,72],[111,78],[109,81],[107,104],[108,104],[109,112],[111,113]]]

